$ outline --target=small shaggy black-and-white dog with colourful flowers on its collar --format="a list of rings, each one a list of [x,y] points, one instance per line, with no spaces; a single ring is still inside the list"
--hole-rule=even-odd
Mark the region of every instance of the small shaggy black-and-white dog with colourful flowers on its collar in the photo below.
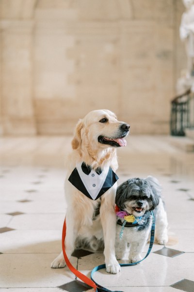
[[[127,257],[131,263],[142,259],[141,253],[152,225],[151,210],[156,221],[155,241],[159,244],[167,243],[168,222],[161,193],[161,185],[152,176],[129,179],[118,186],[115,200],[117,259]]]

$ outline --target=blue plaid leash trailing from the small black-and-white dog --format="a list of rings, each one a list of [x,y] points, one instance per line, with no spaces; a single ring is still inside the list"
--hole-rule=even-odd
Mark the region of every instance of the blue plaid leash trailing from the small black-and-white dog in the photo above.
[[[152,227],[151,227],[151,233],[150,233],[150,243],[149,243],[149,248],[148,248],[148,251],[147,251],[147,254],[146,256],[139,260],[138,262],[135,262],[135,263],[129,263],[129,264],[120,264],[121,267],[126,267],[126,266],[134,266],[134,265],[137,265],[139,264],[141,261],[143,261],[147,256],[149,256],[150,252],[151,252],[151,249],[152,249],[152,246],[154,244],[154,233],[155,233],[155,219],[154,219],[154,214],[153,212],[151,211],[151,215],[152,215]],[[95,267],[92,272],[91,272],[91,280],[93,282],[95,282],[95,284],[97,285],[97,290],[96,292],[122,292],[122,291],[111,291],[111,290],[108,290],[106,289],[105,287],[103,286],[100,286],[99,284],[97,284],[97,282],[93,279],[93,275],[95,272],[101,270],[101,269],[104,269],[106,268],[106,265],[105,264],[102,264],[102,265],[99,265],[97,267]]]

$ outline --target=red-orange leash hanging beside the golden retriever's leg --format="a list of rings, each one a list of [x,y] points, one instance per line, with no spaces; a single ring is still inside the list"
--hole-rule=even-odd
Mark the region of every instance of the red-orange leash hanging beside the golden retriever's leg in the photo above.
[[[87,276],[85,276],[84,274],[81,274],[78,270],[76,270],[70,263],[65,252],[65,237],[66,237],[66,219],[64,221],[63,234],[62,234],[62,249],[63,249],[66,265],[73,274],[75,274],[79,279],[81,279],[81,281],[83,281],[88,286],[91,286],[92,288],[94,288],[94,291],[97,292],[97,285],[90,278],[88,278]]]

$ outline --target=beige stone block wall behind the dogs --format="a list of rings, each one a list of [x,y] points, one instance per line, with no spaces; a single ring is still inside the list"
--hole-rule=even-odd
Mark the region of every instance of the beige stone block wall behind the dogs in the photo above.
[[[0,0],[0,131],[68,134],[95,109],[169,133],[181,0]]]

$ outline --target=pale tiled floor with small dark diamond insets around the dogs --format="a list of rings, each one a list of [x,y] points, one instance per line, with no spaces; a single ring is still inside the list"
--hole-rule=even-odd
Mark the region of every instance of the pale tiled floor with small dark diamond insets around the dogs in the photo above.
[[[110,290],[194,292],[194,153],[171,146],[170,139],[130,136],[128,146],[118,149],[119,183],[153,175],[162,184],[174,244],[154,244],[145,261],[122,267],[119,274],[96,272],[95,280]],[[68,268],[50,268],[61,251],[70,141],[71,137],[0,138],[0,292],[60,292],[66,283],[65,291],[87,290],[73,288],[79,283]],[[101,253],[71,257],[88,276],[103,262]]]

